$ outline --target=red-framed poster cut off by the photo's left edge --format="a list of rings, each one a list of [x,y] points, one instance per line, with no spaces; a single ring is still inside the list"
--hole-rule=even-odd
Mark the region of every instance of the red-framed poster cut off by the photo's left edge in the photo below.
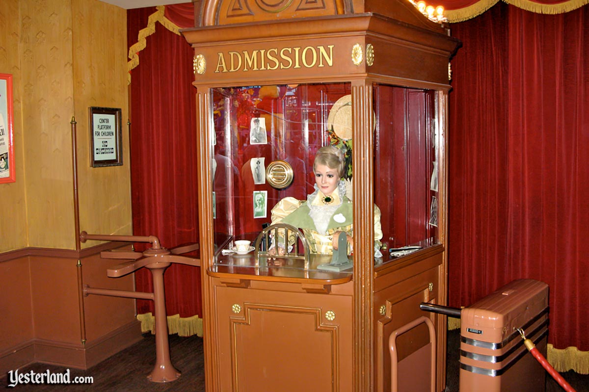
[[[0,184],[15,182],[12,75],[0,74]]]

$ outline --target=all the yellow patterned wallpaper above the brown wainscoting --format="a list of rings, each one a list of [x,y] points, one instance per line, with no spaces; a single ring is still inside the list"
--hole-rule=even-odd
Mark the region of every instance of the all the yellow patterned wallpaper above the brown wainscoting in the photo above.
[[[75,249],[72,117],[81,230],[131,234],[126,11],[95,0],[2,0],[0,72],[14,75],[16,158],[16,182],[0,184],[0,252]],[[122,109],[122,166],[90,167],[90,106]]]

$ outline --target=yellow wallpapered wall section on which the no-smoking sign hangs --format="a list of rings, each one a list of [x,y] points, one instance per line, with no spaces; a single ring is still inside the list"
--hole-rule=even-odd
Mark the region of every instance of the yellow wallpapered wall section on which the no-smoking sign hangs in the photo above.
[[[127,85],[127,12],[95,0],[73,0],[74,111],[78,122],[80,228],[133,234]],[[90,167],[89,107],[121,108],[123,165]],[[148,168],[147,168],[148,169]],[[88,241],[82,248],[97,244]]]

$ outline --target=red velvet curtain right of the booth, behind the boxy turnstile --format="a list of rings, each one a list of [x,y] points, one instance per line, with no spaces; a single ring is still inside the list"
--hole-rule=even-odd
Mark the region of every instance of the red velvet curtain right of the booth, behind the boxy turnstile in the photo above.
[[[589,7],[452,25],[449,304],[550,285],[549,343],[589,350]]]

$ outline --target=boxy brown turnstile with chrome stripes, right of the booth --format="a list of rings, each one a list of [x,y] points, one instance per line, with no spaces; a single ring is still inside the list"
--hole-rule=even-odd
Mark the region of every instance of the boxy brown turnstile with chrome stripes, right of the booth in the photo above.
[[[544,368],[528,354],[518,328],[546,356],[548,285],[514,280],[458,310],[422,304],[422,310],[461,318],[461,392],[538,392],[545,390]]]

